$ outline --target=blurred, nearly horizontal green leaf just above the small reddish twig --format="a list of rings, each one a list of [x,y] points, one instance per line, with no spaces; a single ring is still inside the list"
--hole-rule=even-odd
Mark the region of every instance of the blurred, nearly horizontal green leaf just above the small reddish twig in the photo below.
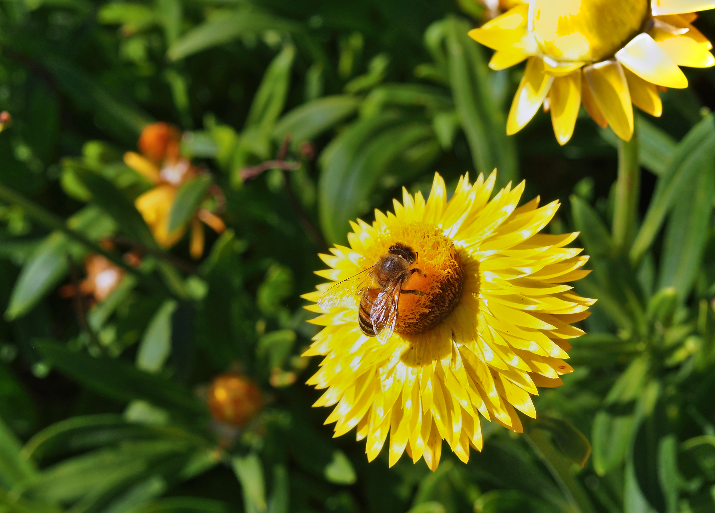
[[[273,128],[273,139],[282,142],[290,135],[291,145],[315,139],[358,110],[360,98],[352,94],[339,94],[315,99],[301,104],[285,114]]]

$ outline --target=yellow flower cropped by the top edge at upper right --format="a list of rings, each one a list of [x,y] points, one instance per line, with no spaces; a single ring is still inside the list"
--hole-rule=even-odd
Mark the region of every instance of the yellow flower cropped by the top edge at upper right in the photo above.
[[[505,69],[528,59],[507,133],[521,130],[541,104],[565,145],[583,103],[601,127],[633,136],[633,107],[663,112],[659,87],[688,87],[679,68],[710,67],[712,44],[692,22],[715,0],[530,0],[469,35],[496,50]]]

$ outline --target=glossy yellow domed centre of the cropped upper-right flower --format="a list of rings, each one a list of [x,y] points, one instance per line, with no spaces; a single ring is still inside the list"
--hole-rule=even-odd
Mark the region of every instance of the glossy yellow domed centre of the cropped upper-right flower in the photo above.
[[[649,0],[536,0],[533,30],[557,61],[598,62],[644,29]]]

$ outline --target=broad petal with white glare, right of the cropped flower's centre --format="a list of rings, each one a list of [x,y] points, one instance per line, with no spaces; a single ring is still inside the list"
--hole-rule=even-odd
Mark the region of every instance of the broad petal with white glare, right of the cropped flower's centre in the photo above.
[[[638,34],[616,52],[616,59],[641,79],[663,87],[684,89],[686,79],[678,65],[649,34]]]

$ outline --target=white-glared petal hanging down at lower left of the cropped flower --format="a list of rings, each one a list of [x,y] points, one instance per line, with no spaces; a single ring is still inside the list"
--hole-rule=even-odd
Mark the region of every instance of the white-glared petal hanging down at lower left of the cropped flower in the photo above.
[[[553,77],[544,73],[543,61],[531,57],[526,63],[524,76],[516,91],[506,122],[506,133],[516,134],[524,125],[531,121],[538,108],[541,107],[548,90],[551,89]]]

